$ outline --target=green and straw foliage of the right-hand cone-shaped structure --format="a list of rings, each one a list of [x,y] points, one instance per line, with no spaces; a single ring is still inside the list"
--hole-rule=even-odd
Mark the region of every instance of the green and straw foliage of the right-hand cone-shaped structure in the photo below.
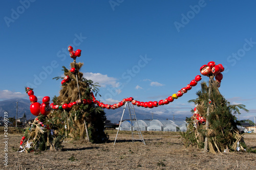
[[[186,146],[204,148],[204,138],[207,135],[212,146],[211,150],[214,149],[216,152],[224,151],[226,148],[232,150],[233,144],[237,141],[237,125],[240,124],[234,114],[240,114],[240,109],[248,111],[245,109],[245,105],[230,105],[214,82],[211,82],[211,89],[206,82],[202,82],[201,90],[196,94],[198,98],[188,102],[200,105],[202,109],[199,114],[207,118],[209,130],[206,131],[205,125],[196,124],[193,118],[187,118],[188,129],[182,134]],[[212,103],[209,104],[209,101]],[[207,112],[207,108],[209,116],[202,115]],[[194,110],[191,111],[194,112]],[[243,143],[242,138],[240,143]]]

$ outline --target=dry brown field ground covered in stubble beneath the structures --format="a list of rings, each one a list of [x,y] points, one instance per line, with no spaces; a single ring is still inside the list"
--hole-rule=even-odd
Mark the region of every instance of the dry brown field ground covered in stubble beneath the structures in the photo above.
[[[232,152],[204,153],[185,148],[178,132],[142,132],[146,145],[132,142],[131,132],[106,130],[110,141],[101,144],[65,139],[61,151],[18,153],[22,133],[8,134],[4,152],[1,133],[0,169],[256,169],[256,154]],[[256,148],[256,133],[244,134],[248,147]],[[14,150],[15,149],[15,150]],[[4,155],[8,153],[8,166]]]

